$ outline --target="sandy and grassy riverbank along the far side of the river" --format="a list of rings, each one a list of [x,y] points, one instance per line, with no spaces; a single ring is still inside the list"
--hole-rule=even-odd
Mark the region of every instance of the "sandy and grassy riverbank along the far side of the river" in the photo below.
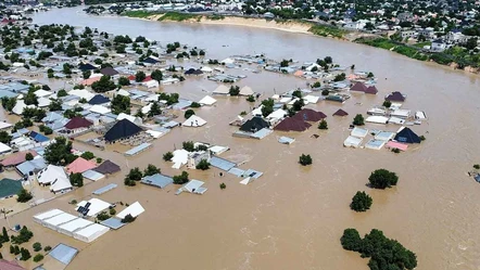
[[[422,51],[419,48],[394,42],[388,38],[380,37],[375,34],[349,31],[336,26],[315,24],[314,22],[276,21],[241,16],[187,14],[178,12],[151,13],[146,11],[131,11],[126,12],[124,15],[148,21],[200,23],[205,25],[232,25],[329,37],[389,50],[418,61],[434,62],[440,65],[449,66],[453,69],[463,69],[473,74],[480,73],[480,68],[477,66],[477,64],[467,59],[468,55],[464,55],[465,53],[463,54],[462,52],[456,52],[455,50],[453,50],[454,53],[449,53],[451,50],[449,50],[446,53],[431,53]]]

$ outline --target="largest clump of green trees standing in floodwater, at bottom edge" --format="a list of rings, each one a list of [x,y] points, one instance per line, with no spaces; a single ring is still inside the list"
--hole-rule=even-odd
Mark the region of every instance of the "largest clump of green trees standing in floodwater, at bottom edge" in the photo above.
[[[362,258],[370,258],[370,270],[412,270],[417,267],[417,256],[396,240],[388,239],[383,232],[372,229],[362,239],[355,229],[345,229],[340,239],[346,250],[361,253]]]

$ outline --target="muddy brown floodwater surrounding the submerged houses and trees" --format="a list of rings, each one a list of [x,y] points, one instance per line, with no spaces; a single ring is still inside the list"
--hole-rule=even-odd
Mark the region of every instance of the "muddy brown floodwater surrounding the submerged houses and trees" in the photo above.
[[[36,234],[34,242],[41,240],[52,246],[61,242],[79,248],[67,269],[368,269],[367,259],[342,249],[339,239],[345,228],[356,228],[362,234],[372,228],[382,230],[417,254],[417,269],[479,269],[480,185],[466,176],[480,162],[478,76],[384,50],[268,29],[96,17],[79,8],[38,13],[34,23],[89,26],[130,37],[142,35],[162,44],[180,41],[205,48],[207,57],[218,60],[253,53],[299,61],[330,55],[341,65],[355,64],[357,70],[371,70],[378,77],[376,97],[353,93],[343,105],[326,101],[308,105],[328,115],[329,129],[313,126],[303,133],[288,133],[296,139],[291,145],[278,143],[277,138],[285,133],[277,131],[260,141],[233,138],[231,133],[238,128],[228,123],[240,112],[249,112],[252,104],[244,98],[228,97],[217,98],[213,107],[195,110],[209,121],[206,126],[175,128],[154,141],[154,147],[134,157],[74,144],[112,159],[122,166],[122,172],[8,219],[11,224],[27,224]],[[248,75],[238,85],[250,86],[263,98],[274,91],[305,87],[306,82],[267,72],[238,73]],[[200,100],[216,87],[216,82],[200,77],[167,86],[164,91]],[[413,127],[427,140],[401,154],[343,147],[353,116],[381,104],[391,91],[408,95],[404,108],[427,113],[428,121]],[[339,107],[350,116],[332,117]],[[366,127],[383,128],[369,124]],[[389,125],[388,129],[397,127]],[[191,179],[205,181],[209,188],[201,196],[175,196],[178,187],[174,185],[160,190],[123,184],[128,168],[143,169],[149,163],[161,167],[163,173],[179,175],[181,170],[172,169],[162,155],[181,147],[187,140],[229,146],[231,150],[222,157],[247,162],[242,169],[253,168],[264,175],[242,185],[238,183],[240,178],[219,177],[216,169],[189,170]],[[298,164],[302,153],[312,155],[313,166]],[[395,171],[399,185],[386,191],[367,188],[368,176],[378,168]],[[33,215],[50,208],[74,213],[70,201],[88,198],[93,190],[111,182],[118,188],[102,194],[101,200],[139,201],[146,208],[134,223],[87,245],[33,222]],[[218,188],[222,182],[227,184],[226,190]],[[357,214],[349,208],[356,191],[367,191],[372,196],[369,211]]]

